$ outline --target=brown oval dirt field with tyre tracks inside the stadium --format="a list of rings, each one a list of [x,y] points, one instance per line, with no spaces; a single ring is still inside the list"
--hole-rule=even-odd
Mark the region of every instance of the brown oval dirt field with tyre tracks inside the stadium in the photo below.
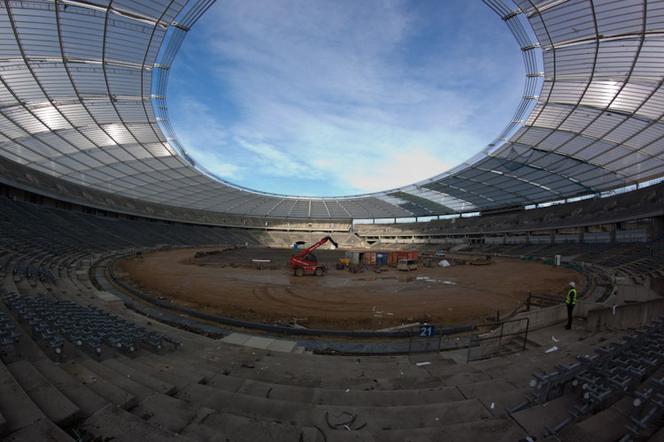
[[[563,293],[578,273],[544,264],[495,259],[485,266],[389,269],[351,274],[334,269],[340,251],[318,250],[323,277],[292,276],[292,251],[249,248],[194,258],[204,249],[146,254],[118,264],[116,275],[143,291],[180,305],[235,318],[297,323],[311,328],[381,329],[427,321],[449,325],[484,322],[513,311],[529,292]],[[269,259],[258,270],[251,259]]]

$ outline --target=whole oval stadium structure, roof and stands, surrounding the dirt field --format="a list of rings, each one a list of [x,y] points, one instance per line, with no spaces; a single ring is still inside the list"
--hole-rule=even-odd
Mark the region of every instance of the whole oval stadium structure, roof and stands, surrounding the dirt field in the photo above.
[[[664,184],[600,197],[664,175],[662,1],[484,0],[524,59],[505,130],[431,179],[338,198],[240,188],[180,145],[170,67],[213,3],[0,2],[0,439],[664,440]],[[332,233],[356,250],[561,255],[586,292],[567,332],[555,300],[513,312],[532,328],[508,355],[472,360],[484,348],[468,338],[351,356],[170,326],[93,272],[157,248]],[[500,341],[505,324],[476,337]]]

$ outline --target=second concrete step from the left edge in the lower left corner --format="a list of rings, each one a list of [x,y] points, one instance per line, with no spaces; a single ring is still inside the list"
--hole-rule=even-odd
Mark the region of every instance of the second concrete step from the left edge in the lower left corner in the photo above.
[[[60,390],[55,388],[28,361],[20,360],[9,364],[7,369],[14,376],[23,391],[56,425],[66,427],[74,423],[80,410]]]

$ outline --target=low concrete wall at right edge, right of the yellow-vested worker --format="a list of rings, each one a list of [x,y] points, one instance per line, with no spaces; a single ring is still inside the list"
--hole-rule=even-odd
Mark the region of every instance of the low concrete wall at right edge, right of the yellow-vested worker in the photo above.
[[[664,315],[664,299],[598,308],[588,312],[586,329],[624,330],[641,327],[648,322]]]

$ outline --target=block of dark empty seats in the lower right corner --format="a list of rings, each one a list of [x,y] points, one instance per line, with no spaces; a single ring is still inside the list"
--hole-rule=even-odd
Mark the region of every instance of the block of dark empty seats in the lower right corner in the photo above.
[[[623,440],[641,440],[656,430],[664,415],[664,378],[650,379],[662,367],[664,318],[601,346],[591,354],[561,363],[554,370],[535,373],[527,399],[510,409],[510,413],[523,412],[564,395],[571,396],[566,415],[544,431],[545,435],[555,436],[631,394],[637,399],[634,401],[637,409],[626,427]],[[644,383],[646,386],[642,387]]]

